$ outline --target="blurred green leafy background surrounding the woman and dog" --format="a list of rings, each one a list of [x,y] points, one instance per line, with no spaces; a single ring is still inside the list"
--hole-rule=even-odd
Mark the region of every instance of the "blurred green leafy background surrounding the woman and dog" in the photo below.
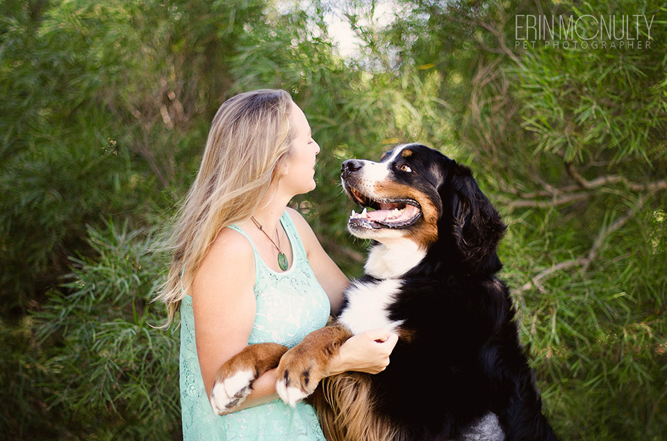
[[[181,438],[178,332],[151,327],[164,311],[149,303],[167,257],[151,250],[215,110],[259,87],[288,90],[308,116],[318,188],[293,204],[350,277],[368,244],[345,232],[340,162],[439,148],[509,225],[502,277],[561,439],[667,436],[664,3],[6,0],[0,12],[6,439]],[[586,14],[653,16],[650,49],[517,44],[516,17]]]

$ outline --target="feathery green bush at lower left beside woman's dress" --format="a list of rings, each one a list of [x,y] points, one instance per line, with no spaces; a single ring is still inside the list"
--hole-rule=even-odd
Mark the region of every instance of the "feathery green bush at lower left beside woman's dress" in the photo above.
[[[150,303],[165,262],[152,256],[147,233],[127,223],[89,227],[88,236],[94,256],[72,258],[67,293],[51,291],[31,315],[35,366],[19,372],[56,420],[23,427],[17,439],[171,438],[180,421],[178,338],[155,328],[164,311]],[[3,407],[19,420],[8,423],[21,423],[13,402]]]

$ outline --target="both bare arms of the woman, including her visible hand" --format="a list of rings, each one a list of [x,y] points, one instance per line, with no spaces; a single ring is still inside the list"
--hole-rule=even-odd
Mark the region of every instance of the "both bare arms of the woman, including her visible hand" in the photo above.
[[[292,209],[288,210],[290,214],[296,213]],[[349,281],[324,252],[306,220],[299,214],[293,215],[293,219],[304,248],[311,249],[311,253],[308,253],[306,248],[306,254],[311,268],[313,261],[318,268],[317,272],[313,268],[315,277],[318,277],[329,295],[332,310],[337,311]],[[307,230],[304,230],[304,224]],[[307,239],[304,240],[304,236]],[[211,395],[215,372],[220,365],[247,346],[256,313],[254,268],[252,245],[238,232],[223,229],[201,262],[192,282],[197,356],[207,396]],[[339,354],[331,363],[329,375],[347,370],[370,374],[381,372],[389,363],[389,355],[396,341],[396,334],[383,329],[353,336],[341,346]],[[274,399],[278,399],[278,395],[276,370],[272,369],[254,381],[252,392],[234,411]]]

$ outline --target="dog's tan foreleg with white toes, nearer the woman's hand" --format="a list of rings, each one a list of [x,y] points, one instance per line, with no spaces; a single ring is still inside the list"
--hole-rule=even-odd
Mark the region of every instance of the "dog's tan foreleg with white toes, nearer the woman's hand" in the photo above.
[[[352,337],[343,325],[327,326],[308,334],[301,343],[281,358],[276,373],[276,390],[290,406],[308,397],[320,380],[329,374],[331,357],[338,354],[340,345]]]

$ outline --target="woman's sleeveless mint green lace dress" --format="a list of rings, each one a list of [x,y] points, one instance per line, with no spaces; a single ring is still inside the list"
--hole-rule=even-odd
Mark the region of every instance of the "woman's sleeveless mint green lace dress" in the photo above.
[[[292,266],[283,273],[276,273],[265,265],[252,245],[257,311],[248,339],[249,345],[273,342],[293,347],[311,331],[324,327],[329,318],[329,298],[308,265],[304,245],[287,211],[281,216],[280,222],[292,245]],[[250,241],[236,225],[229,228],[240,232]],[[230,258],[233,259],[233,256]],[[299,401],[296,408],[277,399],[229,415],[213,413],[197,359],[195,319],[190,295],[186,295],[181,302],[180,365],[184,441],[324,441],[317,415],[303,401]]]

